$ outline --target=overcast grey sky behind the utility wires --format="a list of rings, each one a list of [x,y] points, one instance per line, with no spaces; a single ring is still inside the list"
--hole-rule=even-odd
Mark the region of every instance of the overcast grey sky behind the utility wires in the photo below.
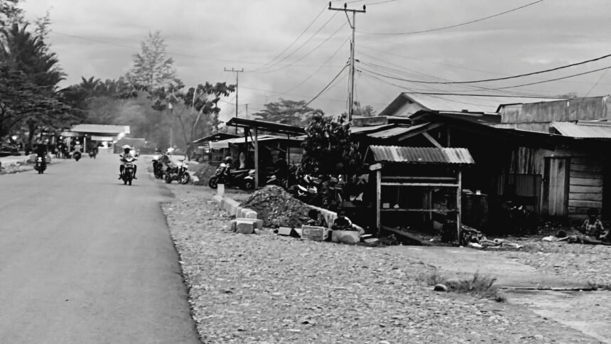
[[[379,112],[401,90],[467,90],[464,86],[390,80],[371,72],[409,80],[481,80],[544,70],[610,53],[608,0],[545,0],[446,30],[409,35],[372,34],[452,26],[534,1],[350,1],[348,8],[360,9],[368,4],[366,14],[357,14],[356,58],[360,61],[357,69],[368,71],[357,72],[356,100],[371,104]],[[333,6],[343,4],[337,1]],[[50,10],[53,22],[50,43],[67,72],[65,85],[79,82],[81,76],[114,79],[124,75],[140,42],[149,31],[160,30],[166,38],[168,53],[175,60],[178,77],[188,86],[206,81],[234,82],[234,73],[223,69],[244,68],[246,72],[239,75],[239,113],[243,115],[244,104],[248,104],[252,114],[279,97],[309,101],[347,63],[350,26],[344,13],[328,11],[327,6],[328,1],[320,0],[26,0],[23,8],[32,21]],[[276,63],[265,65],[295,41],[317,16],[308,31]],[[296,52],[288,55],[293,50]],[[478,86],[521,85],[607,66],[611,66],[611,58]],[[257,70],[261,67],[266,68]],[[311,106],[328,114],[344,111],[347,70],[342,76],[346,77],[338,78]],[[610,87],[611,72],[605,74],[603,70],[494,93],[606,95]],[[225,119],[234,113],[235,106],[233,96],[226,101],[232,104],[225,104],[222,112]]]

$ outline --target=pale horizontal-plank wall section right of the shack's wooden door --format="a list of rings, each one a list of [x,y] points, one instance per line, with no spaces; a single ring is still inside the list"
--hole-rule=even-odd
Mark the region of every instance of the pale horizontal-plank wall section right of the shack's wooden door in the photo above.
[[[569,217],[586,217],[590,208],[602,209],[602,163],[594,158],[571,158]]]

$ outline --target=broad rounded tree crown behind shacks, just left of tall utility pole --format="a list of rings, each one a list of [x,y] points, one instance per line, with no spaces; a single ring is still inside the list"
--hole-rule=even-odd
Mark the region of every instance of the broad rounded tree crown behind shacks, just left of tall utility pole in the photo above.
[[[304,100],[284,100],[270,102],[264,105],[265,109],[256,112],[254,117],[268,122],[290,124],[303,127],[308,122],[308,117],[314,113],[314,109],[305,106]]]

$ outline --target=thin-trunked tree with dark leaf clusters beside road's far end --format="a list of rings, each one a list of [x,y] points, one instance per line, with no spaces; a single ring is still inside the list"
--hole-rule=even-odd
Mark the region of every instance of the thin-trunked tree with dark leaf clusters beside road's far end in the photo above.
[[[151,93],[155,100],[153,109],[160,112],[171,109],[183,132],[185,151],[190,156],[190,142],[200,136],[218,132],[220,127],[218,102],[221,97],[227,97],[235,92],[235,85],[225,82],[199,84],[190,87],[187,92],[182,91],[183,86],[170,85],[161,87]]]

